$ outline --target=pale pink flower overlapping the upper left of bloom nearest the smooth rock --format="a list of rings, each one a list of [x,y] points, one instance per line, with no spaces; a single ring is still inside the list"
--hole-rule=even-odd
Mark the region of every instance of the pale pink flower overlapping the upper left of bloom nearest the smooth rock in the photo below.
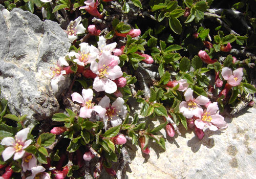
[[[200,117],[203,109],[200,105],[205,105],[209,102],[209,99],[204,96],[199,96],[196,99],[193,97],[193,90],[188,88],[184,93],[186,101],[180,103],[180,112],[186,118],[192,118],[193,116]]]

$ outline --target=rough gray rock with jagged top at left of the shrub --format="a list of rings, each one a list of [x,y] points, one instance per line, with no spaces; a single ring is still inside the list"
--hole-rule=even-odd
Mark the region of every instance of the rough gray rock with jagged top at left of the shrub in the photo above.
[[[67,34],[53,21],[2,5],[0,32],[1,98],[9,101],[11,113],[28,115],[30,122],[52,116],[59,109],[56,98],[70,84],[66,78],[56,94],[50,85],[50,68],[69,52]]]

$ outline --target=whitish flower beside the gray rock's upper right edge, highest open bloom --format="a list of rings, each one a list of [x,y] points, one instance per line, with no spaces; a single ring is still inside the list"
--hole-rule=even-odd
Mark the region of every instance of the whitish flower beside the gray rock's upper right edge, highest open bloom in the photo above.
[[[73,43],[74,40],[76,40],[76,35],[77,34],[83,34],[86,32],[86,28],[83,27],[82,24],[79,24],[81,21],[81,16],[77,17],[74,21],[71,20],[70,24],[66,30],[68,34],[69,41]]]

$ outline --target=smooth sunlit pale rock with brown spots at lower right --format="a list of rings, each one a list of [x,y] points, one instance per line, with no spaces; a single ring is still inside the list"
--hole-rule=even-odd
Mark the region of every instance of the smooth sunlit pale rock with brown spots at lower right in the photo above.
[[[223,131],[206,130],[202,140],[180,126],[182,136],[167,137],[166,151],[150,143],[150,155],[145,155],[140,148],[126,145],[132,164],[126,166],[122,178],[255,178],[256,109],[243,113],[225,118],[228,128]],[[165,131],[160,132],[166,138]]]

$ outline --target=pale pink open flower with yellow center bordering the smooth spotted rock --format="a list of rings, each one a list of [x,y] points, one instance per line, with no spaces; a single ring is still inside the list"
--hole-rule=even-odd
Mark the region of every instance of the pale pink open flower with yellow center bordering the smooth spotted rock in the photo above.
[[[227,123],[224,118],[219,115],[219,107],[217,102],[209,104],[206,110],[200,111],[199,119],[195,120],[195,125],[199,129],[203,129],[204,126],[210,130],[218,130],[218,128],[226,128]]]

